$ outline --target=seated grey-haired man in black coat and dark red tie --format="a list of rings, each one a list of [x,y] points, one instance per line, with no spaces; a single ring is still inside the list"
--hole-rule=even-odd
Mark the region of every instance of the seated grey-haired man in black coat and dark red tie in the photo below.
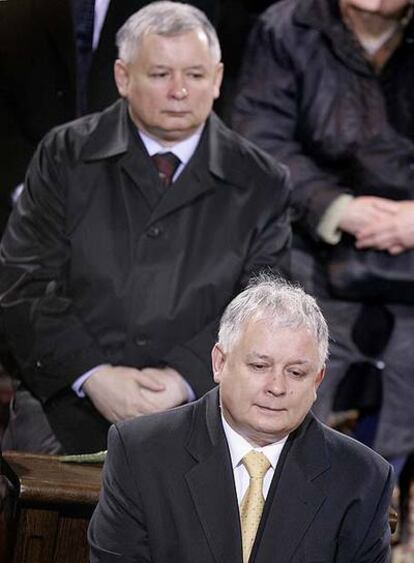
[[[94,451],[110,422],[201,396],[220,314],[289,242],[285,170],[210,115],[205,15],[154,3],[117,43],[123,100],[44,139],[2,241],[23,379],[4,448]]]

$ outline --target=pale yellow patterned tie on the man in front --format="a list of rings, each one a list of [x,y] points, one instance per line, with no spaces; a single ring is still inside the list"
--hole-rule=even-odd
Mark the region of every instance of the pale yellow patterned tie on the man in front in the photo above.
[[[244,456],[242,463],[250,475],[249,487],[240,505],[243,563],[247,563],[262,517],[265,502],[263,479],[270,467],[270,462],[261,452],[251,450]]]

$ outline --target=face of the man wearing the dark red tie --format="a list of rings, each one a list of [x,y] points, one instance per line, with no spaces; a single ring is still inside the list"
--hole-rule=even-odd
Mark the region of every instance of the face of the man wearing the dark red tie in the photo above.
[[[145,35],[132,63],[115,63],[118,90],[129,102],[133,121],[167,145],[191,136],[206,120],[222,74],[201,30]]]

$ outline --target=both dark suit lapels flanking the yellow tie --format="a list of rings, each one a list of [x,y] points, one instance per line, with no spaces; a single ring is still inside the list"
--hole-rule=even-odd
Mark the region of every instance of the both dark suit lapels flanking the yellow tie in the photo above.
[[[218,405],[216,388],[196,408],[187,443],[196,464],[186,480],[215,561],[239,563],[239,511]],[[325,501],[329,467],[322,425],[309,414],[282,452],[252,553],[255,563],[291,560]]]

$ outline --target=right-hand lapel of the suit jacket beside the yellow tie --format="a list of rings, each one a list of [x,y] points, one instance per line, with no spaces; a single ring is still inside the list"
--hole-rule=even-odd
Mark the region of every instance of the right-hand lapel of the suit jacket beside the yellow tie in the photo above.
[[[330,464],[322,430],[312,415],[306,417],[285,448],[266,500],[255,563],[291,561],[326,498],[325,473]]]

